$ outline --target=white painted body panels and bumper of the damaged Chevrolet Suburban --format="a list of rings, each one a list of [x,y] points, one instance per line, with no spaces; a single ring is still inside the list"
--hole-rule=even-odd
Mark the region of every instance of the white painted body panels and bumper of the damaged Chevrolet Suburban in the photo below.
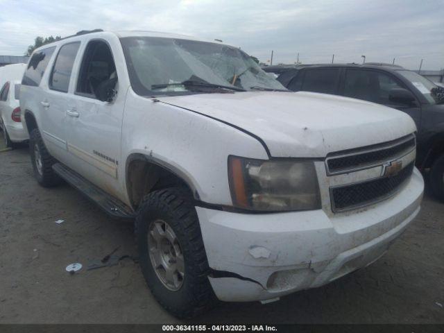
[[[50,92],[47,69],[40,87],[22,87],[20,101],[22,110],[34,112],[52,155],[128,205],[126,163],[133,154],[175,172],[205,203],[230,206],[230,155],[268,160],[268,148],[272,158],[325,157],[416,130],[403,112],[310,92],[138,96],[130,87],[119,42],[119,36],[129,35],[190,39],[161,33],[104,32],[61,40],[53,44],[56,51],[48,69],[60,46],[80,42],[69,91]],[[74,94],[85,47],[96,38],[108,42],[117,67],[119,83],[112,103]],[[78,117],[67,114],[74,109]],[[406,155],[405,160],[413,158],[414,154]],[[247,278],[210,277],[219,299],[267,300],[330,282],[348,273],[350,267],[373,262],[418,214],[424,183],[417,170],[392,198],[333,214],[331,186],[377,178],[382,168],[327,176],[323,160],[314,165],[320,210],[239,214],[196,207],[210,267]],[[272,275],[275,279],[269,280]]]

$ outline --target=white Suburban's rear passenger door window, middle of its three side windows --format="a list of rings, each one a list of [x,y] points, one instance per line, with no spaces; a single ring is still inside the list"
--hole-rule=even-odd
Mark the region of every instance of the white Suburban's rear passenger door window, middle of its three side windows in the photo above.
[[[68,92],[69,79],[79,46],[80,42],[75,42],[65,44],[60,48],[49,78],[50,89]]]

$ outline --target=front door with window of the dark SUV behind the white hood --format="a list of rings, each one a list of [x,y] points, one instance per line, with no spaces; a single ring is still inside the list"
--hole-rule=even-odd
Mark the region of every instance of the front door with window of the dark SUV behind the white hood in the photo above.
[[[345,71],[342,94],[354,99],[364,99],[386,105],[406,112],[415,121],[417,128],[420,128],[421,109],[420,104],[397,104],[388,99],[388,94],[393,88],[404,88],[404,84],[385,71],[373,69],[347,69]]]

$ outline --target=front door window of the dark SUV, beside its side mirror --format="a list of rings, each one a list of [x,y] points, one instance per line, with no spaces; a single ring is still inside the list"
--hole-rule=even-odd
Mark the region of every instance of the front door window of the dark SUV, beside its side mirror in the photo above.
[[[348,69],[345,72],[344,96],[379,104],[393,104],[388,99],[393,88],[402,86],[382,72],[362,69]]]

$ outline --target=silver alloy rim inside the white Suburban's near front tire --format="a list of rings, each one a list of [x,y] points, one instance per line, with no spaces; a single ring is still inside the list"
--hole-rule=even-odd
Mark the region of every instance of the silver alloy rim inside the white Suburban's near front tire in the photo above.
[[[148,230],[148,253],[160,282],[171,291],[182,287],[185,262],[182,248],[170,225],[157,219]]]

